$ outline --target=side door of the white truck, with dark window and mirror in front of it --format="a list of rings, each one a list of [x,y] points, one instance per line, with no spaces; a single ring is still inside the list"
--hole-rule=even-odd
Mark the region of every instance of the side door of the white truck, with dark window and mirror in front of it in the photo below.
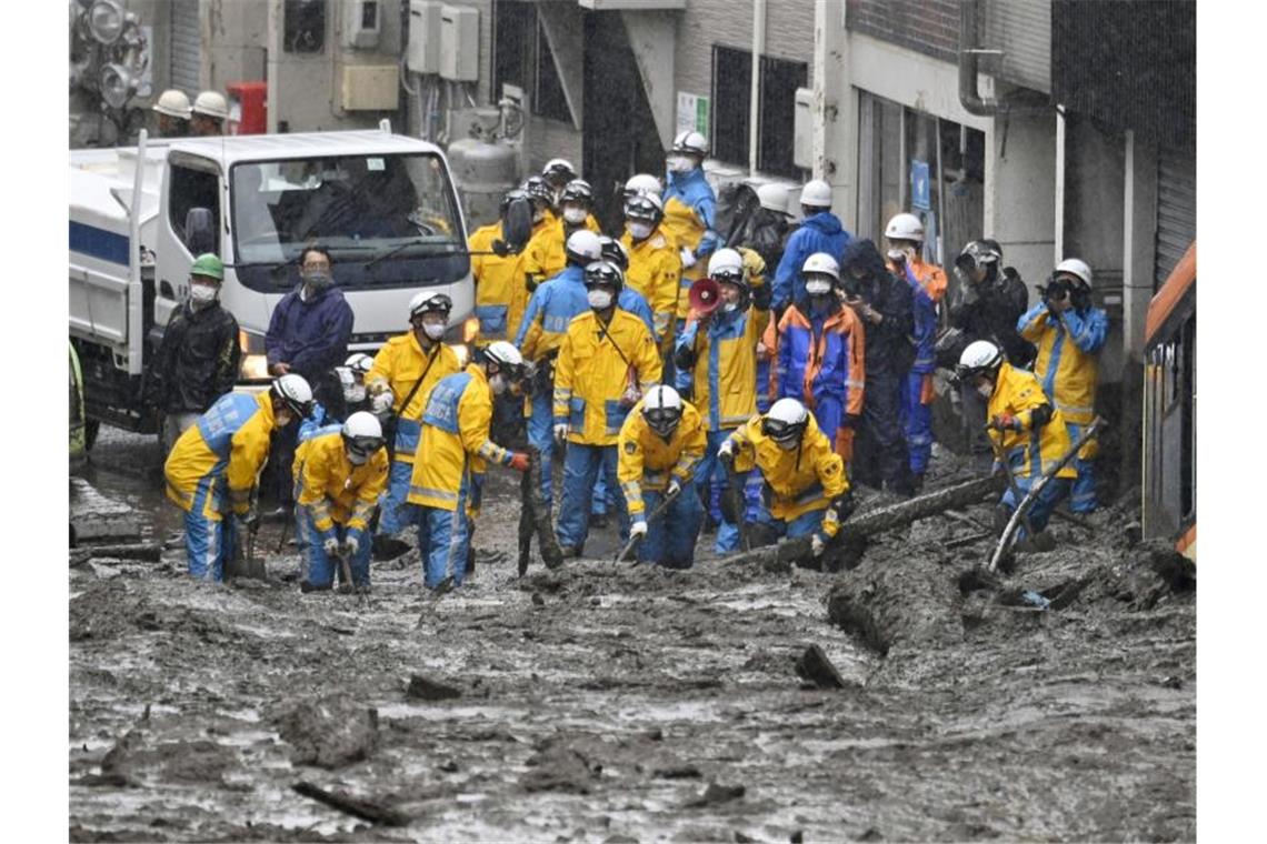
[[[189,295],[189,267],[204,252],[222,253],[220,168],[214,161],[171,153],[158,219],[155,325],[167,325]]]

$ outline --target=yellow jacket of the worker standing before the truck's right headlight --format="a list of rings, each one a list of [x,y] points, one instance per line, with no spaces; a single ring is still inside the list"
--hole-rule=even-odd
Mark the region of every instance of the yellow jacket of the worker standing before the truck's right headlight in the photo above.
[[[430,368],[428,368],[430,364]],[[422,386],[409,399],[409,406],[402,407],[409,391],[418,378],[426,377]],[[461,371],[461,362],[457,353],[443,343],[432,347],[431,354],[422,351],[418,338],[413,332],[393,337],[379,353],[374,356],[374,366],[365,376],[365,386],[372,396],[381,392],[383,387],[390,387],[395,401],[393,411],[400,416],[399,430],[397,431],[395,459],[402,463],[413,463],[413,453],[418,447],[418,419],[423,407],[427,406],[427,396],[431,395],[441,378]]]

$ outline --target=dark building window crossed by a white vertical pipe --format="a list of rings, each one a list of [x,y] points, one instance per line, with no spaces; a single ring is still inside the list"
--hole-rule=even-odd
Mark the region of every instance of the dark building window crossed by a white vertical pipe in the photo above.
[[[749,111],[751,110],[753,53],[713,44],[712,57],[712,157],[748,164]],[[796,90],[805,87],[810,66],[761,56],[758,68],[756,168],[772,176],[801,177],[792,163]]]

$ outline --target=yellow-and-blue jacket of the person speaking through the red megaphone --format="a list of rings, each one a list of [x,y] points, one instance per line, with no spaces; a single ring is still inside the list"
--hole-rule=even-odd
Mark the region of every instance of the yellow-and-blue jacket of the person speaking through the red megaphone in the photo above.
[[[755,306],[739,316],[718,309],[701,328],[692,311],[679,347],[693,351],[693,401],[707,414],[708,430],[736,428],[756,413],[756,343],[769,321],[770,311]]]

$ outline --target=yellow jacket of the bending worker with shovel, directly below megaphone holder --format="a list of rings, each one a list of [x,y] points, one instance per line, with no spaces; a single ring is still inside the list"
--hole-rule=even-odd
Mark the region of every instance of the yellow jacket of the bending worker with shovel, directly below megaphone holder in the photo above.
[[[630,519],[642,515],[642,490],[661,491],[669,486],[673,475],[682,482],[683,495],[693,493],[688,482],[696,464],[703,459],[708,437],[704,434],[699,411],[691,402],[682,402],[682,421],[668,443],[651,430],[642,418],[642,401],[630,410],[621,425],[616,464],[616,477],[625,493]]]

